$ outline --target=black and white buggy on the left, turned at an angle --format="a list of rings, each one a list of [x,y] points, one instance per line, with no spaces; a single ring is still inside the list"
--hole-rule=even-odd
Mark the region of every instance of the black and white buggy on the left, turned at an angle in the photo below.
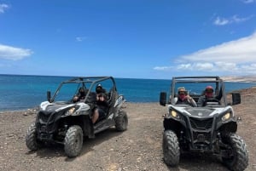
[[[108,113],[95,124],[91,121],[92,110],[96,105],[96,85],[101,83],[108,94]],[[73,102],[79,88],[86,90],[84,100]],[[48,101],[39,106],[35,123],[28,128],[26,146],[35,151],[39,146],[60,143],[68,157],[77,157],[82,149],[84,136],[94,138],[96,133],[115,126],[125,131],[128,124],[123,95],[117,92],[113,77],[77,77],[62,82]]]

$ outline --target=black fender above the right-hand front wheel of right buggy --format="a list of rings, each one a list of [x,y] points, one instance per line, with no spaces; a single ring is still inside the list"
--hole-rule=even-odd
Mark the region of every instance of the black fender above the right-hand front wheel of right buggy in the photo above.
[[[223,133],[236,133],[237,123],[234,118],[232,118],[228,123],[219,122],[217,123],[217,129]]]

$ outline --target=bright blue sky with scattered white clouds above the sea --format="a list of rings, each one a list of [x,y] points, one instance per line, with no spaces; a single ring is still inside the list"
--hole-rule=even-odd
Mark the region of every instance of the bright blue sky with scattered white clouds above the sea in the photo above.
[[[0,0],[0,74],[256,75],[256,0]]]

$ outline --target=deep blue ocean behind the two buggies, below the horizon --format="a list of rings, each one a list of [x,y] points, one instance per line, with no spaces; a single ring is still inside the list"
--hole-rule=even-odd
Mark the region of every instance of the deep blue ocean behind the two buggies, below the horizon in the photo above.
[[[0,74],[0,111],[26,110],[46,100],[46,92],[73,77]],[[158,102],[161,91],[169,92],[171,80],[115,78],[119,94],[129,102]],[[251,88],[256,83],[225,83],[227,92]]]

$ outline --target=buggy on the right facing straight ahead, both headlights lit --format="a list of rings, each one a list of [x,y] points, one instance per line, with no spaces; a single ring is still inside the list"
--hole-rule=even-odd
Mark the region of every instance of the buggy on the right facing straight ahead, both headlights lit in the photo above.
[[[207,86],[214,88],[215,97],[203,107],[175,105],[177,88],[185,87],[196,102]],[[241,95],[226,96],[219,77],[172,77],[170,98],[160,93],[160,105],[168,104],[164,117],[163,153],[167,165],[177,166],[183,152],[205,152],[218,156],[230,170],[244,170],[248,164],[246,144],[236,134],[237,119],[230,105],[241,103]],[[230,98],[231,102],[227,102]]]

